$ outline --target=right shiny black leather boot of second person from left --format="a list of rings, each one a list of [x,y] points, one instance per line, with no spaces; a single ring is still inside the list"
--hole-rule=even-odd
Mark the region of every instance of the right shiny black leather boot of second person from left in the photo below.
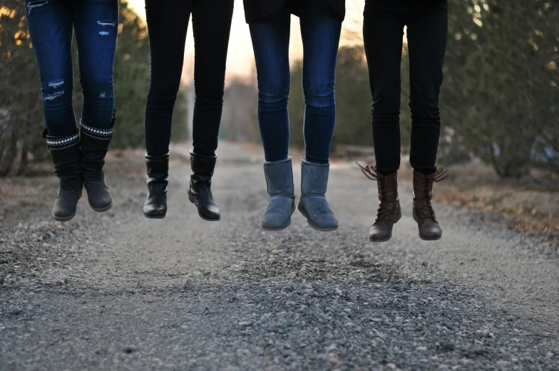
[[[190,151],[190,189],[188,199],[198,208],[200,218],[208,221],[221,219],[220,209],[217,208],[212,197],[212,176],[217,157],[196,155]]]

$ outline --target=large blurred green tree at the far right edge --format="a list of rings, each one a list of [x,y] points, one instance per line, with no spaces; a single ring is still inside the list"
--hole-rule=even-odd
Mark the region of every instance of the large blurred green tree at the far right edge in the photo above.
[[[558,4],[451,1],[441,115],[502,177],[558,166]]]

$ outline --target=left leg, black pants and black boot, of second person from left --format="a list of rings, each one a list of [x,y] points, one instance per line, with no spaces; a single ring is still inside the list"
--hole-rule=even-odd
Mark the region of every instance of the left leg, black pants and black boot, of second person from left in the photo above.
[[[173,108],[183,73],[186,31],[192,6],[192,0],[145,0],[151,56],[150,90],[145,105],[148,196],[143,213],[147,218],[162,219],[167,214]]]

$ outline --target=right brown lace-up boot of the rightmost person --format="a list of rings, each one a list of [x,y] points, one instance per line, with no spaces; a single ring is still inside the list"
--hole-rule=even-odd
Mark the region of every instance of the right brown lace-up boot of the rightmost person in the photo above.
[[[442,167],[433,174],[424,175],[414,170],[414,220],[419,228],[419,237],[427,241],[441,239],[443,230],[435,217],[431,198],[433,183],[448,178]]]

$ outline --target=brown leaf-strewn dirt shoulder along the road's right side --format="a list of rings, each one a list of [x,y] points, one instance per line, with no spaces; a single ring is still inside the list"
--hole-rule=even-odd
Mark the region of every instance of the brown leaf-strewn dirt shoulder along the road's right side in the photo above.
[[[374,164],[372,149],[342,146],[334,160]],[[501,179],[493,168],[481,162],[446,167],[449,177],[434,186],[434,201],[498,213],[508,229],[528,231],[554,241],[559,249],[559,178],[534,172],[523,179]],[[398,174],[400,184],[412,187],[412,171],[403,157]]]

